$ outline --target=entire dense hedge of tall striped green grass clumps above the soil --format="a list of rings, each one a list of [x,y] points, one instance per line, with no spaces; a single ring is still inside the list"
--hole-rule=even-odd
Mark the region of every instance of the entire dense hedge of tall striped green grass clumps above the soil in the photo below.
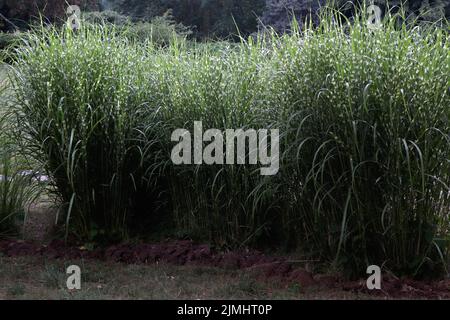
[[[17,129],[81,239],[123,239],[165,217],[180,236],[301,247],[355,273],[442,271],[449,38],[395,20],[370,30],[335,17],[220,49],[45,30],[14,66]],[[172,131],[200,120],[280,129],[280,172],[174,166]]]

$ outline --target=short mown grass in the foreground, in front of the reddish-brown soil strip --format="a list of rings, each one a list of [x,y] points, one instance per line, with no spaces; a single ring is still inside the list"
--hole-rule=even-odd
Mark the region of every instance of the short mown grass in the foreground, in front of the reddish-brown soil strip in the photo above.
[[[82,289],[66,289],[66,268],[81,267]],[[0,257],[0,299],[369,299],[339,289],[257,279],[210,267],[123,265]]]

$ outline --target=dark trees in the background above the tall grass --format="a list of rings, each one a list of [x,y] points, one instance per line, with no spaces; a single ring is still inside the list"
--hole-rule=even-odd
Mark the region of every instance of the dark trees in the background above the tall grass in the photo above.
[[[26,28],[41,13],[49,21],[63,21],[68,3],[79,5],[84,12],[103,12],[113,21],[128,17],[132,21],[151,21],[167,16],[173,22],[188,26],[196,38],[227,38],[248,35],[262,24],[283,31],[292,13],[301,21],[316,12],[325,0],[0,0],[0,29]],[[337,0],[338,6],[349,1]],[[383,6],[385,0],[375,0]],[[407,0],[409,15],[425,15],[429,20],[450,16],[450,0]],[[392,4],[399,0],[390,1]],[[15,25],[15,26],[14,26]]]

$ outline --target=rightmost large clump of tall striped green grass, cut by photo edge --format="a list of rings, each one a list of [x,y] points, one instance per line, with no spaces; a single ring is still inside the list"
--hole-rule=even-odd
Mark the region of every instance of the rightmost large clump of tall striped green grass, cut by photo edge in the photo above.
[[[416,274],[449,250],[449,38],[396,18],[283,42],[282,195],[298,241],[335,265]]]

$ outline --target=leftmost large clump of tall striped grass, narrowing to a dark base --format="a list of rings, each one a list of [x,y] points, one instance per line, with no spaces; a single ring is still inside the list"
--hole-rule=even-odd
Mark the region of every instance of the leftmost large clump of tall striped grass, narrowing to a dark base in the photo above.
[[[67,208],[67,233],[70,226],[78,238],[124,238],[141,186],[142,50],[101,27],[42,31],[16,64],[24,150],[52,177]]]

